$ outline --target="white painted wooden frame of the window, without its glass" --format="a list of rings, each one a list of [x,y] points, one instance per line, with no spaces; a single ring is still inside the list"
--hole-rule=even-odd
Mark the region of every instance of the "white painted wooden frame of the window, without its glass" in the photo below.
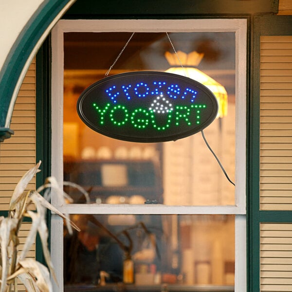
[[[236,174],[233,206],[166,206],[52,203],[66,214],[234,214],[235,292],[246,292],[246,19],[103,19],[60,20],[52,30],[52,176],[63,181],[64,33],[68,32],[235,32]],[[51,219],[51,255],[63,292],[63,220]],[[53,281],[54,282],[54,281]]]

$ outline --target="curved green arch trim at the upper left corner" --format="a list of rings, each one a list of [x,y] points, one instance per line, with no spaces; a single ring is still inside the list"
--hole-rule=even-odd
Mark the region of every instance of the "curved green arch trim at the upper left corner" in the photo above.
[[[19,76],[38,40],[70,0],[44,1],[23,27],[0,71],[0,127],[5,121]],[[7,125],[6,125],[7,127]]]

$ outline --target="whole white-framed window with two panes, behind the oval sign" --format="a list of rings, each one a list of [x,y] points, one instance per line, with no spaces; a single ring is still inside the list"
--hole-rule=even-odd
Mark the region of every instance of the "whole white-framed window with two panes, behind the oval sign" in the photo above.
[[[220,80],[227,91],[228,114],[204,132],[235,187],[199,133],[176,142],[129,143],[93,132],[77,117],[76,98],[103,78],[129,32],[135,35],[110,74],[173,70],[177,55],[165,58],[166,51],[173,53],[165,31],[175,49],[188,54],[178,52],[185,70],[196,65],[192,57],[198,61],[204,53],[198,68]],[[235,291],[243,291],[246,20],[61,20],[52,45],[52,175],[60,183],[79,183],[90,193],[87,203],[73,189],[67,189],[73,203],[52,199],[82,227],[76,237],[69,237],[63,222],[52,216],[59,286],[74,291],[84,283],[95,287],[98,282],[107,286],[125,281],[128,257],[139,287],[166,284],[184,291],[198,284],[225,289],[235,285]],[[91,236],[94,255],[82,254],[81,245],[75,244],[86,245],[84,233]],[[70,256],[73,247],[78,249],[78,256],[72,254],[75,259]],[[110,256],[117,261],[114,267]],[[82,257],[86,263],[98,260],[84,265]],[[93,270],[107,274],[90,275]]]

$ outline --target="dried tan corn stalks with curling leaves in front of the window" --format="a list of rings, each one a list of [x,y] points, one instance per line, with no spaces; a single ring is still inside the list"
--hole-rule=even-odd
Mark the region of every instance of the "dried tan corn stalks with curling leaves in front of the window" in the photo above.
[[[55,277],[53,265],[48,249],[48,228],[46,225],[46,210],[52,210],[67,221],[70,226],[79,230],[73,224],[68,216],[60,213],[53,205],[49,203],[51,188],[56,189],[58,196],[68,200],[68,195],[64,194],[54,178],[48,178],[46,183],[37,190],[25,192],[28,183],[36,175],[41,162],[27,171],[20,179],[12,194],[9,204],[8,217],[0,217],[0,292],[18,291],[17,279],[25,286],[28,292],[52,292],[50,274]],[[39,192],[44,190],[44,197]],[[88,194],[84,192],[85,196]],[[34,203],[36,211],[28,210],[28,206]],[[24,217],[32,219],[31,229],[26,238],[24,247],[20,252],[18,250],[18,232]],[[69,224],[68,224],[69,223]],[[40,236],[42,250],[48,268],[32,258],[26,258],[28,251],[35,242],[37,233]]]

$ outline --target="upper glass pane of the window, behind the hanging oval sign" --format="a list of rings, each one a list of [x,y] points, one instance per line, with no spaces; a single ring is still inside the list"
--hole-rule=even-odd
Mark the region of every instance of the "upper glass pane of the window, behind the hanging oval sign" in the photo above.
[[[104,78],[130,35],[64,34],[64,179],[82,185],[90,193],[91,203],[234,205],[234,186],[226,180],[201,133],[176,142],[131,143],[96,133],[78,117],[80,93]],[[198,67],[216,84],[220,116],[204,134],[234,181],[235,34],[172,33],[170,37],[176,50],[185,53],[180,55],[183,72],[195,78],[192,72]],[[178,56],[166,58],[166,52],[173,53],[173,49],[165,34],[136,33],[110,74],[141,70],[181,74],[177,71],[182,69],[180,63],[174,65]],[[67,191],[75,203],[85,202],[75,190]]]

